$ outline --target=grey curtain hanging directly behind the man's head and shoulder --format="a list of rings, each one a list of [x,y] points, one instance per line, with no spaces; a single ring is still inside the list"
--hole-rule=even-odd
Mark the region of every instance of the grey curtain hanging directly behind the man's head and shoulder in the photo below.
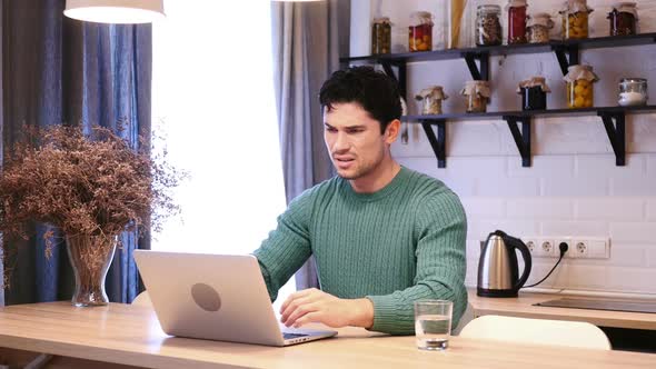
[[[319,90],[348,54],[349,0],[272,7],[276,103],[287,202],[335,174],[324,144]],[[318,287],[310,259],[296,275],[298,289]]]

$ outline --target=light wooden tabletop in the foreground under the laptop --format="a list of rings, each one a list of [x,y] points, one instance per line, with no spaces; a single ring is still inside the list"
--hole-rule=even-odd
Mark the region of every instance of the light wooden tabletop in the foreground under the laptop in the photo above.
[[[655,368],[656,356],[493,343],[454,337],[444,352],[414,337],[362,329],[286,348],[166,336],[149,307],[74,308],[50,302],[0,308],[0,347],[150,368]],[[89,366],[87,366],[89,367]],[[108,366],[95,366],[108,368]]]

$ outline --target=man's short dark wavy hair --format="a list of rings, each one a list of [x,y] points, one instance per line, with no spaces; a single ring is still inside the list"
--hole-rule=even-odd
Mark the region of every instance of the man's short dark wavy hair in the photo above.
[[[321,108],[334,103],[356,102],[380,123],[380,133],[401,117],[401,101],[397,81],[371,67],[338,70],[321,86]]]

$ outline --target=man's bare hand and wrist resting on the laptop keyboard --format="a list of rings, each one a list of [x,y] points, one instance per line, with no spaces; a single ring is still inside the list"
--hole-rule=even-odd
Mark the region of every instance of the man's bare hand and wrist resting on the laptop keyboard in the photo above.
[[[316,288],[291,293],[280,307],[280,321],[294,328],[308,322],[332,328],[374,325],[374,303],[369,299],[340,299]]]

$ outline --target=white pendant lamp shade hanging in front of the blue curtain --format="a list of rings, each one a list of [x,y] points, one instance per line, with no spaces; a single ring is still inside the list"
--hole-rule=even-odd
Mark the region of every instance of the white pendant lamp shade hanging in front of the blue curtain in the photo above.
[[[163,18],[163,0],[67,0],[63,14],[97,23],[150,23]]]

